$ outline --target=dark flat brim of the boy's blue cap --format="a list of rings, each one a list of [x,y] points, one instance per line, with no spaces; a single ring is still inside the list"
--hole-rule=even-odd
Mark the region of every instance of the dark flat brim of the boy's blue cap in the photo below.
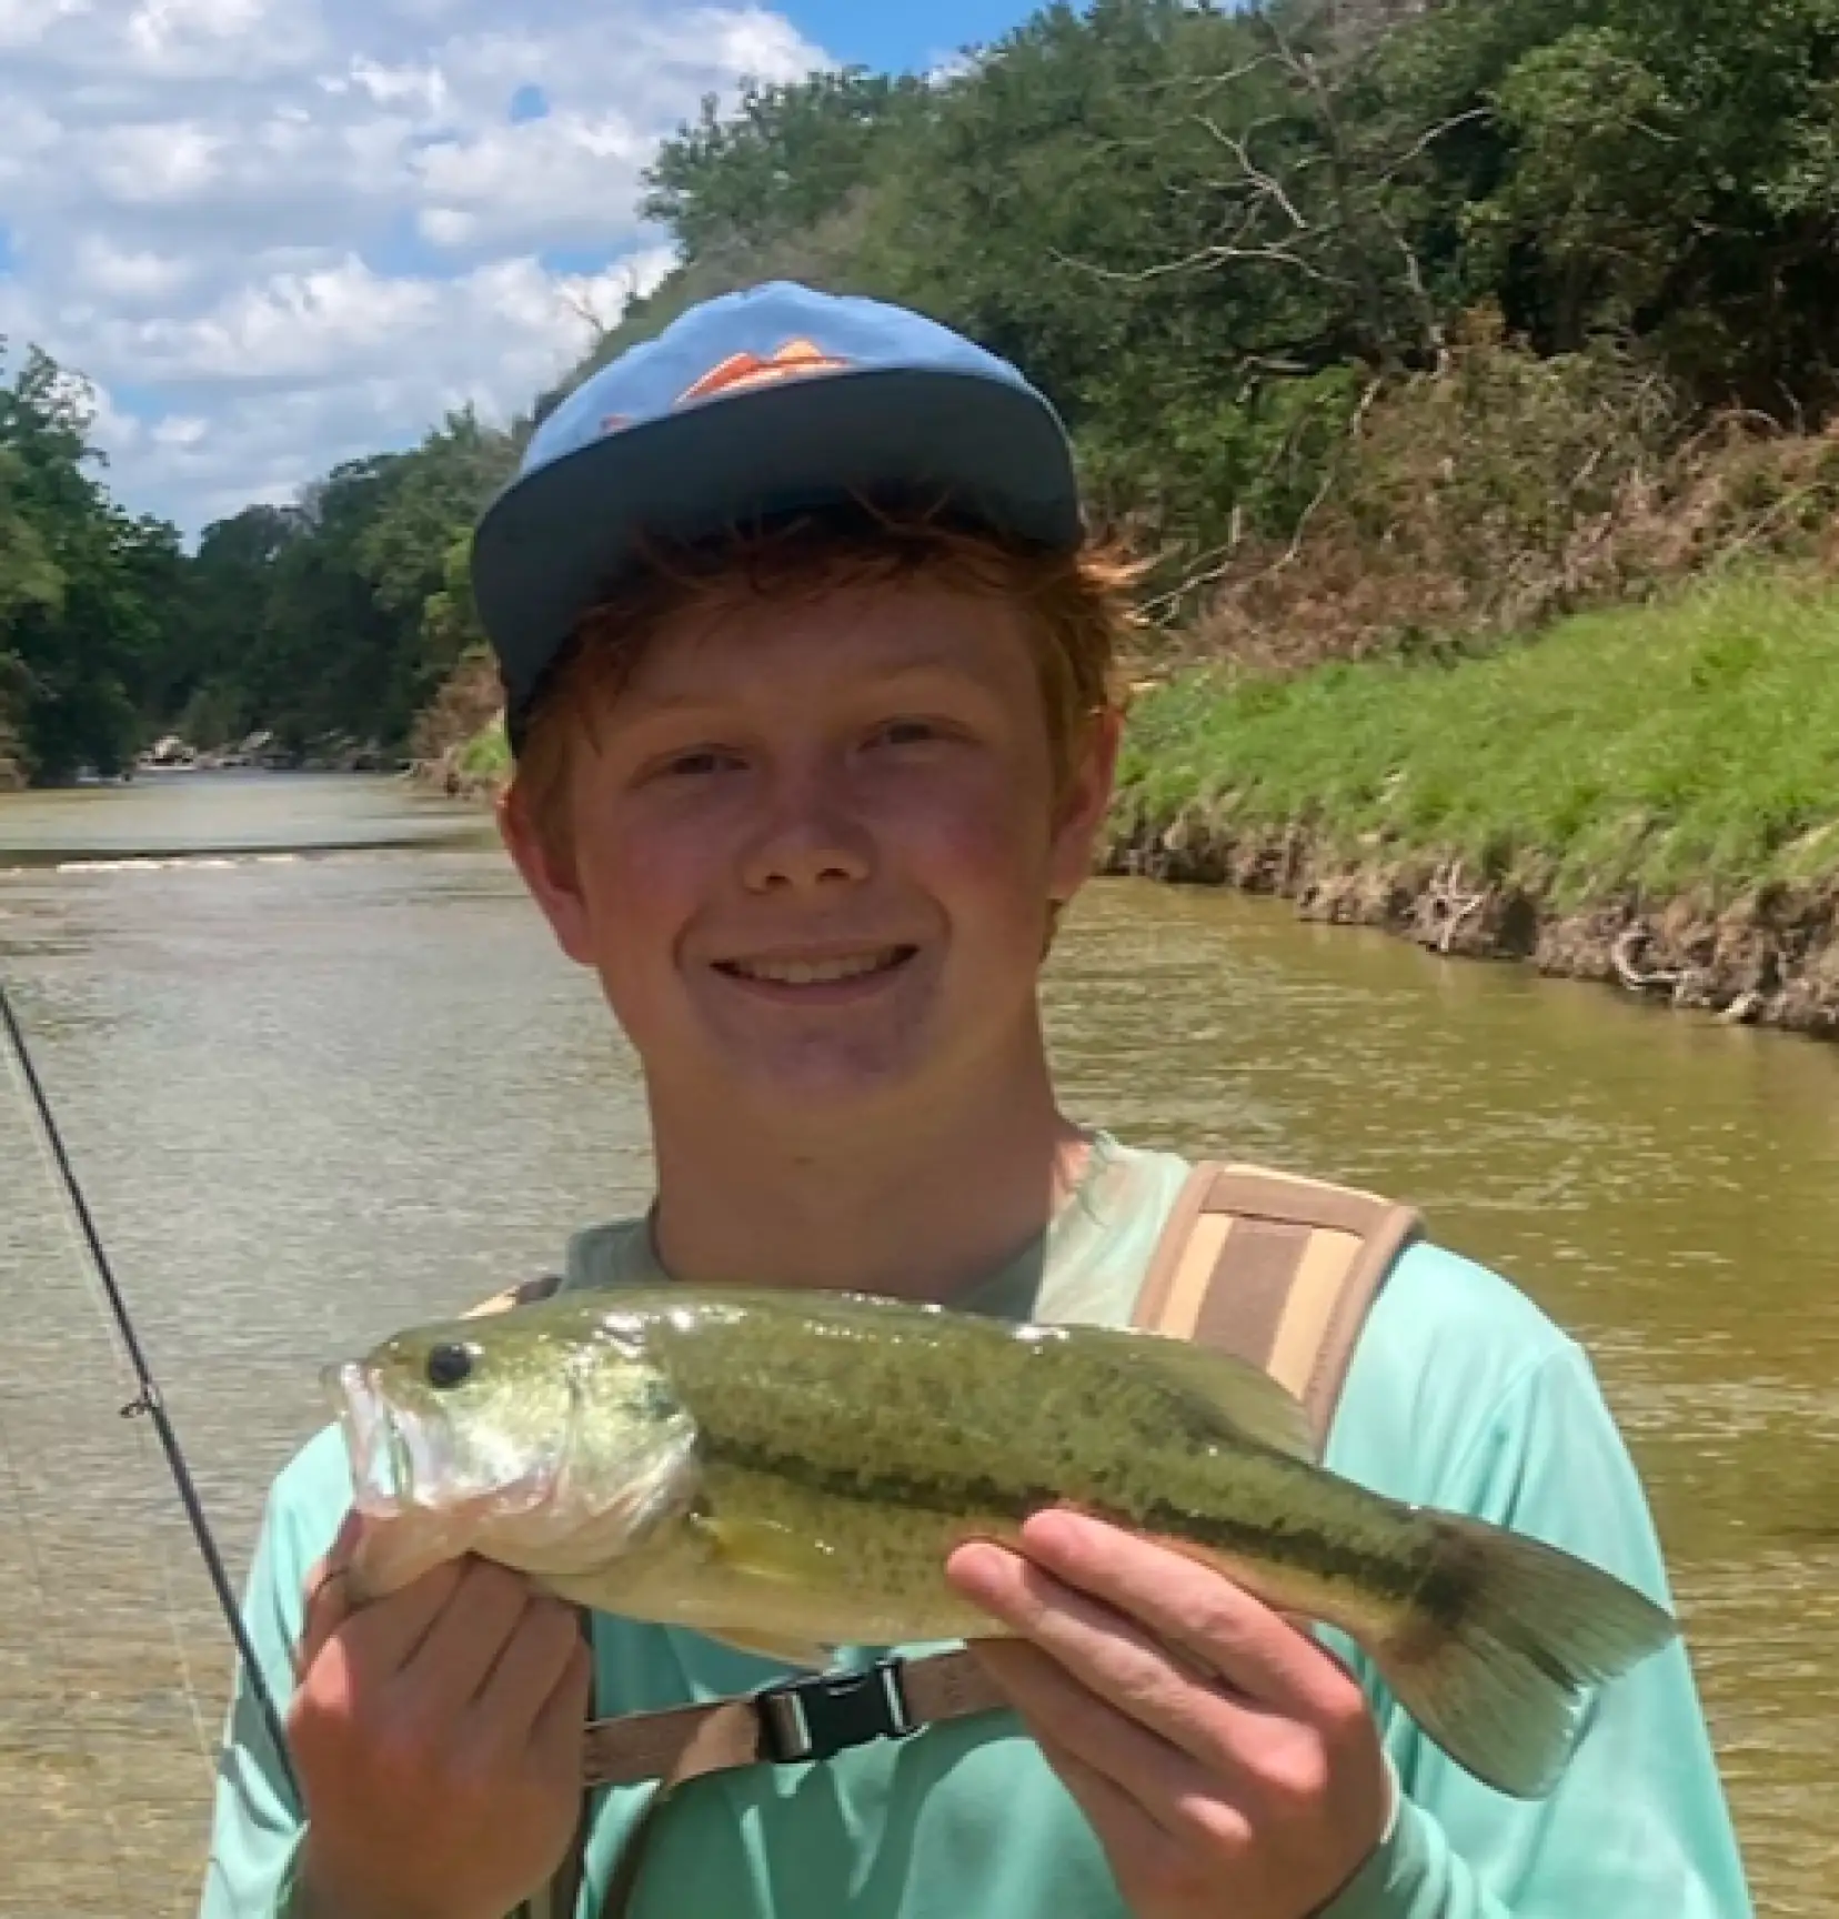
[[[1065,430],[1040,395],[895,368],[735,393],[612,432],[507,487],[472,541],[472,593],[513,704],[632,558],[850,493],[914,489],[1044,547],[1079,539]]]

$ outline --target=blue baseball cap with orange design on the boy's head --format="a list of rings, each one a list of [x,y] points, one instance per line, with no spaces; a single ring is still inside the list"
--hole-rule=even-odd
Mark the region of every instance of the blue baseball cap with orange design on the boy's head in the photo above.
[[[1083,532],[1052,403],[906,307],[770,280],[597,368],[532,434],[472,537],[513,743],[637,535],[699,539],[862,493],[918,495],[1048,549]]]

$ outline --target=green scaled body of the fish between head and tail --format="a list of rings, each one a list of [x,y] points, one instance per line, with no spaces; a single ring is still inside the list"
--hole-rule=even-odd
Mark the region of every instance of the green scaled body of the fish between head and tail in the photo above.
[[[850,1577],[858,1591],[877,1575],[910,1585],[937,1570],[941,1541],[948,1549],[973,1531],[1006,1535],[1056,1503],[1246,1558],[1288,1537],[1296,1566],[1325,1585],[1357,1581],[1401,1602],[1432,1572],[1428,1541],[1371,1524],[1369,1499],[1340,1499],[1328,1518],[1298,1510],[1296,1462],[1259,1458],[1217,1407],[1161,1378],[1140,1353],[1133,1368],[1110,1351],[1044,1336],[1019,1343],[1017,1359],[1017,1339],[1000,1324],[983,1341],[956,1330],[939,1338],[931,1320],[877,1339],[873,1315],[833,1311],[827,1320],[818,1359],[789,1361],[766,1324],[722,1326],[710,1338],[706,1318],[670,1326],[657,1351],[701,1433],[714,1510],[770,1503],[783,1508],[776,1524],[847,1543],[872,1562]],[[1232,1510],[1221,1510],[1219,1449],[1234,1439]],[[1000,1478],[992,1458],[1002,1460]],[[726,1491],[731,1470],[745,1489]],[[873,1549],[872,1514],[889,1514],[875,1528],[889,1539]],[[950,1524],[916,1528],[921,1514]],[[1445,1591],[1442,1604],[1451,1602]]]

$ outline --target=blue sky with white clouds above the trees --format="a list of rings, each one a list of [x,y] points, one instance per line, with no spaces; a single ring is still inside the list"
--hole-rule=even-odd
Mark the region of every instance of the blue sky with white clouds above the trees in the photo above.
[[[927,71],[1029,0],[0,0],[0,351],[190,539],[472,403],[670,267],[639,175],[745,75]]]

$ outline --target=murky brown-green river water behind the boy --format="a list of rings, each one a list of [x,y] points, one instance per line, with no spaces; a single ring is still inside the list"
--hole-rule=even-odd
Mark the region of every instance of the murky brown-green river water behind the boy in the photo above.
[[[0,796],[0,975],[238,1583],[324,1359],[645,1190],[591,984],[388,779]],[[1050,1015],[1081,1115],[1409,1196],[1589,1345],[1758,1911],[1839,1911],[1839,1050],[1134,881]],[[190,1913],[227,1637],[4,1069],[0,1299],[0,1913]]]

